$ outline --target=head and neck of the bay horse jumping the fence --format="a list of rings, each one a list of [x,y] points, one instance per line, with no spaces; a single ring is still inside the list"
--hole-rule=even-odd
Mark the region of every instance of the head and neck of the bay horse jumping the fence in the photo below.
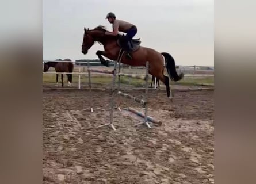
[[[86,54],[95,41],[101,41],[102,37],[105,36],[106,30],[104,29],[104,26],[98,26],[92,30],[84,28],[84,30],[85,33],[83,33],[82,53]]]

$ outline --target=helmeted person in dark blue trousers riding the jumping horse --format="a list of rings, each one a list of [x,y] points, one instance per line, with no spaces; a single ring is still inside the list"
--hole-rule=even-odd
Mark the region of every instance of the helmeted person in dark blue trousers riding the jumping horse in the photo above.
[[[114,13],[112,13],[112,12],[109,12],[106,15],[106,19],[108,19],[110,24],[113,24],[113,26],[112,26],[113,32],[106,32],[107,35],[116,36],[119,31],[127,33],[125,35],[126,51],[127,51],[127,55],[126,56],[129,59],[132,59],[132,57],[130,55],[130,48],[131,48],[130,41],[135,36],[135,34],[137,34],[137,27],[135,25],[129,23],[129,22],[116,19],[116,15]]]

